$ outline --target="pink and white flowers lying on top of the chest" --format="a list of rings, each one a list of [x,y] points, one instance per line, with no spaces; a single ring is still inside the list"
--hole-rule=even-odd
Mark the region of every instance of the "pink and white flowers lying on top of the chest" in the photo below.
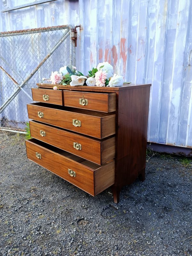
[[[87,86],[123,86],[123,76],[113,74],[113,67],[108,62],[99,63],[97,68],[92,68],[88,71],[88,75],[84,76],[76,70],[72,65],[61,67],[59,72],[51,73],[50,78],[43,78],[40,84],[44,81],[51,81],[54,90],[57,90],[60,85],[87,85]],[[58,84],[58,85],[57,85]]]

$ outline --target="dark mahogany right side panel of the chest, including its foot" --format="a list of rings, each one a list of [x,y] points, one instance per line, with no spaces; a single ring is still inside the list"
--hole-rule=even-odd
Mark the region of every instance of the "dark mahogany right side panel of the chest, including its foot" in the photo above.
[[[115,203],[119,202],[123,186],[133,183],[138,176],[145,179],[150,86],[117,94]]]

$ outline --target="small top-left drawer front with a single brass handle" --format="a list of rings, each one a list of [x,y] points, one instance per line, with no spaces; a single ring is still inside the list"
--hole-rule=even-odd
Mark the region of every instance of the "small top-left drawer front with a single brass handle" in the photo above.
[[[49,90],[49,89],[37,89],[32,88],[32,96],[33,100],[45,102],[45,103],[51,103],[51,104],[57,104],[57,105],[63,105],[63,97],[62,97],[62,91],[60,90]]]

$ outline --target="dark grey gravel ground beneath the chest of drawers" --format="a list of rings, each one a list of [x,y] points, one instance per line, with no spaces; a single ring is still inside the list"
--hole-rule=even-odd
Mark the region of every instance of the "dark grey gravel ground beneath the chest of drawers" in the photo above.
[[[152,156],[146,180],[92,197],[0,132],[0,255],[192,255],[192,166]]]

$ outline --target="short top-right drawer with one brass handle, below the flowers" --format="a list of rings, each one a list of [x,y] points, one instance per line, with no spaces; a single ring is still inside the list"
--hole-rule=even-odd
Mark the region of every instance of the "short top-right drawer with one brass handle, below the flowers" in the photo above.
[[[64,91],[64,105],[102,112],[116,110],[116,93]]]

